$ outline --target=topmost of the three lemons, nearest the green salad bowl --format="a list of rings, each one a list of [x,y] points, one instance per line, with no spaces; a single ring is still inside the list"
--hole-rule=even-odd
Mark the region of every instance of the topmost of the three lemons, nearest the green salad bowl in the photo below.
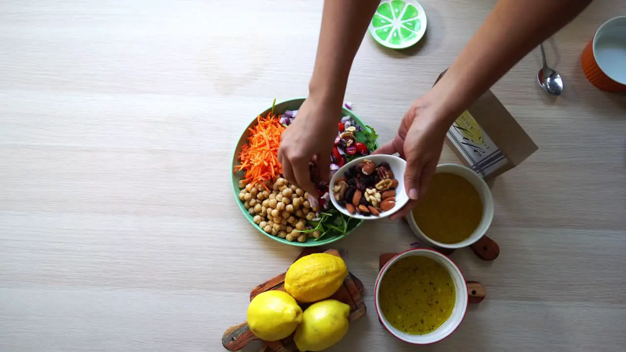
[[[348,274],[341,257],[314,253],[291,264],[285,275],[285,291],[300,302],[315,302],[332,296]]]

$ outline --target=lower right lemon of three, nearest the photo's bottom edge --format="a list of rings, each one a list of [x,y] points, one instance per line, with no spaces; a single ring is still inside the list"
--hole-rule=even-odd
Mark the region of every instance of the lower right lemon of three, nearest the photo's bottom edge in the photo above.
[[[295,346],[302,352],[322,351],[338,343],[348,332],[349,315],[350,306],[334,299],[311,304],[295,329]]]

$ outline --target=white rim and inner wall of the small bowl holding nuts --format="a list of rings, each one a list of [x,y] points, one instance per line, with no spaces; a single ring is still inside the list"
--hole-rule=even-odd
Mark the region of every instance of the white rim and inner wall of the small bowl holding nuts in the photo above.
[[[394,173],[394,178],[398,180],[398,187],[396,187],[396,205],[393,208],[387,210],[386,212],[381,212],[381,214],[379,214],[378,216],[374,216],[374,215],[364,216],[364,215],[360,215],[357,213],[350,214],[350,212],[346,208],[342,207],[341,205],[337,203],[334,192],[332,192],[332,189],[335,187],[335,181],[339,179],[339,177],[344,177],[344,174],[347,172],[347,170],[350,167],[359,165],[359,163],[362,163],[363,160],[366,160],[366,159],[371,160],[371,162],[376,163],[376,165],[382,162],[388,163],[389,167],[391,167],[391,171]],[[404,189],[404,170],[405,169],[406,169],[406,161],[403,158],[399,158],[394,155],[377,154],[377,155],[367,155],[366,157],[356,158],[352,160],[351,162],[346,163],[346,165],[342,166],[339,170],[337,170],[337,172],[334,175],[332,175],[331,185],[329,187],[329,193],[331,195],[332,205],[334,205],[337,208],[337,210],[339,210],[343,214],[346,214],[349,217],[354,217],[354,219],[376,220],[376,219],[382,219],[383,217],[387,217],[391,214],[394,214],[394,212],[397,212],[402,207],[404,207],[405,204],[409,202],[409,196],[406,194],[406,190]]]

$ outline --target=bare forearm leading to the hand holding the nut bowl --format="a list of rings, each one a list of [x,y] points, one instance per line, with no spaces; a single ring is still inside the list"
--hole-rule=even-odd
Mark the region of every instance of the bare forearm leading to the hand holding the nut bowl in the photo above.
[[[591,0],[500,0],[446,75],[428,94],[446,128],[531,49]]]

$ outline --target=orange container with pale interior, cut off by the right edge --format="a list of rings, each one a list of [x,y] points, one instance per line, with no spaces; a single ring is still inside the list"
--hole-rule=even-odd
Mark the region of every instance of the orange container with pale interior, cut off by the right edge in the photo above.
[[[626,16],[602,24],[580,61],[587,80],[599,90],[626,91]]]

